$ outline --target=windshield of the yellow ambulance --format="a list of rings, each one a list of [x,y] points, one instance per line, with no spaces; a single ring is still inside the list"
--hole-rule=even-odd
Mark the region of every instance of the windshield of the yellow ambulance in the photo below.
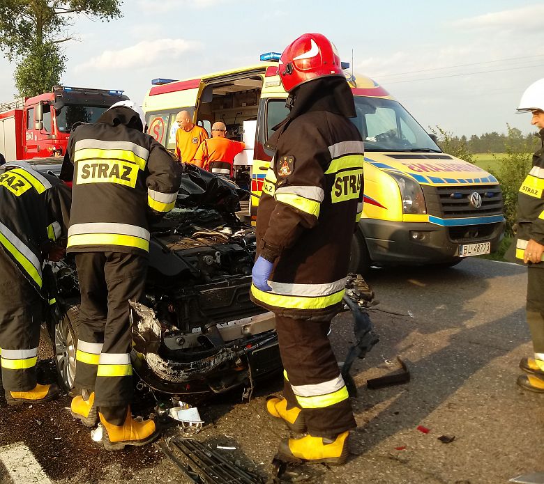
[[[423,127],[397,101],[354,96],[357,117],[352,123],[363,136],[365,151],[441,153]]]

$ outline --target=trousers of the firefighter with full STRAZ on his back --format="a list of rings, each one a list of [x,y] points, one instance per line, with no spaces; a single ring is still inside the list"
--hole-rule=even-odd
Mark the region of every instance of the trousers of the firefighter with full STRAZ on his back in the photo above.
[[[130,253],[75,256],[80,281],[75,386],[95,392],[97,407],[130,404],[133,367],[128,300],[144,295],[147,259]]]

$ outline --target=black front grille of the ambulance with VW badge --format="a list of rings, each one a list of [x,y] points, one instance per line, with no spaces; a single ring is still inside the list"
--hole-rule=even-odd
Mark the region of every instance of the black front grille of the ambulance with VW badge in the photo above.
[[[482,205],[476,208],[470,201],[478,193]],[[430,187],[423,185],[427,213],[444,219],[483,217],[503,213],[500,185],[477,185],[471,187]]]

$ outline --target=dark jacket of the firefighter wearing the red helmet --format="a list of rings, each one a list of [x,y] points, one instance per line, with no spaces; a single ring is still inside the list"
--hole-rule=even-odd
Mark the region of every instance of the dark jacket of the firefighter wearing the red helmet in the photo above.
[[[252,300],[296,319],[338,313],[363,210],[361,134],[344,114],[321,108],[288,117],[269,141],[275,155],[257,212],[257,256],[274,263],[273,290],[252,286]]]

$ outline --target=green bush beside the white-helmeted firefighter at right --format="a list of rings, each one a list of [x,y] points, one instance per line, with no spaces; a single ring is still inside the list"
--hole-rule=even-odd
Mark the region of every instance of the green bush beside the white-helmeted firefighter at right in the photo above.
[[[501,183],[504,201],[504,217],[506,219],[506,234],[513,235],[513,225],[516,220],[517,192],[529,173],[532,165],[532,156],[538,146],[539,138],[523,136],[520,130],[508,127],[508,135],[504,141],[506,155],[497,158],[499,169],[492,170],[493,175]]]

